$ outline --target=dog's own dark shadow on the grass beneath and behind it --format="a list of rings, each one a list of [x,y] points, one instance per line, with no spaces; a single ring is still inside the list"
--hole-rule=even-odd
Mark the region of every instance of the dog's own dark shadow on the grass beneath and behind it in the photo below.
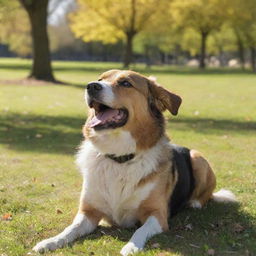
[[[185,209],[172,218],[170,231],[149,240],[145,250],[157,247],[161,251],[185,256],[208,255],[209,249],[215,250],[214,255],[255,255],[255,221],[252,216],[240,211],[238,204],[210,202],[201,210]],[[128,242],[135,230],[100,227],[77,242],[102,236]]]

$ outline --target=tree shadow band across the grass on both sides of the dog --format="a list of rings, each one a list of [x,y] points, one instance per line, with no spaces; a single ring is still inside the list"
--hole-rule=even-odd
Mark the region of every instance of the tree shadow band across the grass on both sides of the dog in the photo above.
[[[73,154],[82,140],[85,118],[10,113],[0,116],[0,143],[19,151]],[[180,118],[167,122],[167,128],[223,134],[231,131],[255,132],[256,122]]]

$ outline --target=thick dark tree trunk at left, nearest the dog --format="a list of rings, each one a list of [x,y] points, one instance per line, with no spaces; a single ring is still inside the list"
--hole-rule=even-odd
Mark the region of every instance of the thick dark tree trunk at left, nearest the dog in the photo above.
[[[47,34],[48,0],[20,0],[28,13],[33,41],[33,66],[31,78],[55,81],[50,58]]]

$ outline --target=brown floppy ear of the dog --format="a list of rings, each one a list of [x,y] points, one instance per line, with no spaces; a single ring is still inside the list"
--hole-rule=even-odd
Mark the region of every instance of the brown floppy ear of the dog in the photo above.
[[[151,103],[154,103],[161,112],[168,109],[176,116],[182,102],[181,97],[157,84],[155,78],[149,77],[148,80]]]

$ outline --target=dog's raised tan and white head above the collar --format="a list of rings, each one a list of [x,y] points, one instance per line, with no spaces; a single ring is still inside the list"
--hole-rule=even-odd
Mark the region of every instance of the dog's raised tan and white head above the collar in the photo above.
[[[115,152],[113,143],[128,143],[129,138],[134,140],[136,149],[128,151],[152,147],[164,133],[162,112],[169,110],[177,115],[181,104],[178,95],[153,79],[127,70],[110,70],[90,82],[86,100],[90,114],[84,127],[85,137],[104,152],[111,151],[105,153],[115,154],[119,152]],[[123,151],[121,148],[126,145],[119,147]]]

